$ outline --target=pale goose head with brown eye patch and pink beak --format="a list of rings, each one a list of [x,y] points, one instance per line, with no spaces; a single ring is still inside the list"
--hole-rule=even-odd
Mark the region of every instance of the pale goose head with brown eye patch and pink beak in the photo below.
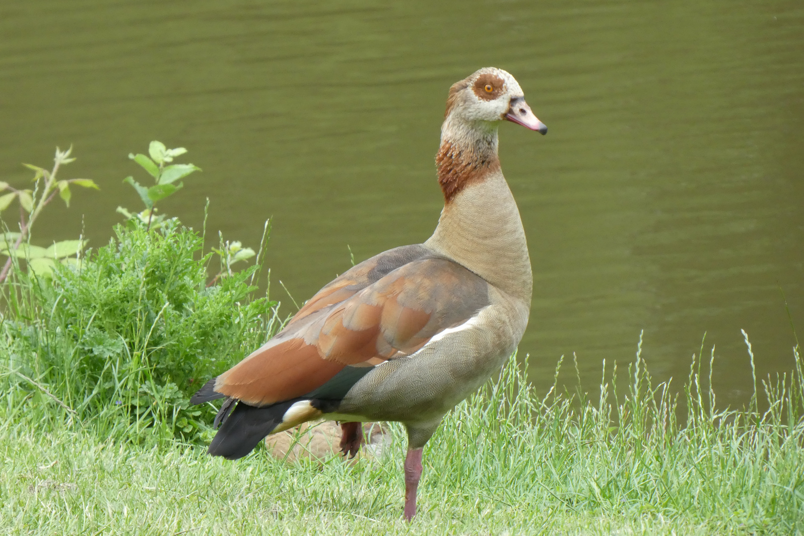
[[[449,88],[445,125],[453,121],[475,129],[496,129],[499,121],[511,121],[541,134],[548,128],[525,102],[525,94],[510,73],[482,68]]]

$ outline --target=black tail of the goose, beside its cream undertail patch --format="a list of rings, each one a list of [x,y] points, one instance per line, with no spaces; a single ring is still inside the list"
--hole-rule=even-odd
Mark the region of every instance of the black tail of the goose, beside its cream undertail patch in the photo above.
[[[282,422],[285,411],[300,399],[288,400],[269,407],[253,407],[242,402],[224,419],[215,438],[209,444],[212,456],[236,460],[252,452],[262,438]],[[223,408],[221,408],[223,409]]]

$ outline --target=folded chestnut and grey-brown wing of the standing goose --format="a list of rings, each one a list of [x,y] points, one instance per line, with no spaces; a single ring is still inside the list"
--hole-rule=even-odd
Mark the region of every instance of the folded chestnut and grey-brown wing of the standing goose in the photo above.
[[[215,391],[256,406],[293,399],[344,366],[412,354],[488,305],[485,280],[415,248],[386,252],[390,261],[377,256],[326,285],[277,337],[221,374]]]

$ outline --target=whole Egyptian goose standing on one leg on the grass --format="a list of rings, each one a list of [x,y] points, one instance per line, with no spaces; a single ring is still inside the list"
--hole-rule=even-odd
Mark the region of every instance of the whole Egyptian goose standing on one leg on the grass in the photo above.
[[[505,120],[548,130],[502,69],[449,88],[436,156],[445,203],[433,236],[351,268],[195,393],[195,404],[226,397],[211,455],[234,460],[269,434],[324,418],[343,423],[341,448],[353,456],[359,422],[399,421],[408,431],[404,518],[416,515],[422,448],[527,325],[531,261],[497,156]]]

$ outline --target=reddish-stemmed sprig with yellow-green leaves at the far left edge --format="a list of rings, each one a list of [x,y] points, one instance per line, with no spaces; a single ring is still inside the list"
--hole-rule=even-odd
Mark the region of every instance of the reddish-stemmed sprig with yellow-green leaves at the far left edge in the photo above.
[[[53,168],[46,170],[39,166],[23,164],[34,171],[34,189],[17,189],[10,186],[8,182],[0,182],[0,192],[8,191],[7,194],[0,195],[0,211],[6,210],[16,199],[19,203],[19,232],[6,231],[0,235],[0,254],[8,257],[6,264],[0,271],[0,283],[6,280],[8,272],[14,259],[27,260],[28,268],[40,275],[49,275],[57,260],[63,264],[68,262],[77,263],[80,252],[84,249],[85,240],[64,240],[52,244],[50,248],[39,248],[25,243],[31,235],[33,227],[39,215],[47,204],[58,194],[68,207],[72,198],[70,186],[81,186],[82,188],[93,188],[98,190],[98,186],[88,178],[59,179],[57,174],[59,168],[75,158],[70,158],[72,146],[66,151],[55,149]],[[69,256],[76,256],[75,259],[68,259]]]

